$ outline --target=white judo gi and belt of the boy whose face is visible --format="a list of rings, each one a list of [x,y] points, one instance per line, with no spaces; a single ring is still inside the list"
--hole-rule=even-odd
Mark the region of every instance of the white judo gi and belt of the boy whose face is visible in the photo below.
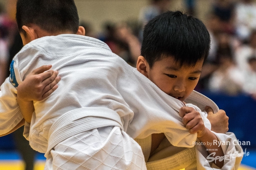
[[[188,102],[186,106],[194,107],[200,112],[204,125],[209,129],[207,124],[209,120],[206,119],[207,113],[201,110],[204,110],[205,106],[211,106],[215,113],[218,111],[218,107],[214,106],[211,100],[196,91],[192,92],[186,99],[186,102]],[[234,143],[236,143],[235,140],[237,140],[234,133],[227,132],[226,134],[222,134],[213,131],[212,133],[216,135],[220,143],[224,142],[225,144],[228,144],[221,145],[224,155],[227,156],[222,170],[237,170],[243,157],[243,150],[241,146],[234,145]],[[210,160],[209,158],[206,159],[208,152],[202,145],[196,145],[192,149],[186,149],[184,147],[175,147],[171,145],[167,139],[164,139],[160,146],[150,154],[151,137],[135,139],[135,141],[142,147],[148,170],[180,170],[183,168],[186,170],[219,169],[214,164],[210,166],[209,162],[207,162],[207,160]],[[237,154],[234,154],[235,152],[237,152]]]

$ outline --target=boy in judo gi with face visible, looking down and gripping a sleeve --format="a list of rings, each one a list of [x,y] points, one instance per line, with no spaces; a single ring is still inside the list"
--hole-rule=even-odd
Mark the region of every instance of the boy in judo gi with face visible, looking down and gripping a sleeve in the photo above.
[[[188,96],[190,96],[190,99],[191,96],[193,96],[191,94],[194,93],[193,90],[198,83],[202,65],[209,52],[209,46],[207,46],[210,43],[209,35],[205,30],[206,28],[201,21],[193,19],[191,16],[187,16],[181,12],[166,12],[153,20],[150,20],[144,27],[141,56],[138,57],[137,70],[154,82],[154,84],[166,94],[182,102],[186,101],[188,103],[193,103],[191,100],[188,100]],[[200,40],[198,39],[199,37]],[[201,107],[201,109],[202,108],[203,107]],[[207,111],[209,119],[211,119],[212,115],[225,115],[223,110],[219,111],[217,114],[212,114],[210,107],[206,107],[206,110],[207,109],[209,109]],[[186,104],[186,107],[182,107],[179,112],[180,116],[183,117],[182,123],[184,123],[190,133],[195,133],[194,129],[200,126],[199,123],[201,123],[200,121],[196,121],[195,113],[197,111],[194,106]],[[226,118],[227,121],[228,117],[225,117],[224,115],[222,115],[223,119]],[[201,117],[200,114],[198,114],[198,117]],[[222,123],[225,124],[224,120]],[[226,133],[228,131],[228,126],[224,127],[223,124],[220,129],[215,129],[214,123],[212,123],[212,125],[211,130],[214,132]],[[208,129],[204,128],[204,130]],[[206,137],[207,135],[205,133],[202,136],[198,131],[197,133],[198,139],[204,143],[206,150],[208,150],[208,154],[222,152],[221,148],[210,146],[210,137]],[[202,139],[202,137],[206,137],[208,140]],[[218,137],[218,135],[216,135],[215,138],[216,137]],[[233,138],[236,139],[234,136]],[[212,139],[214,139],[214,137]],[[196,162],[188,163],[188,159],[183,159],[184,161],[181,161],[186,154],[191,154],[188,149],[177,148],[170,145],[170,143],[166,142],[167,140],[164,133],[152,134],[152,141],[153,140],[157,140],[154,142],[154,145],[158,147],[158,149],[154,150],[156,147],[153,148],[154,146],[152,145],[151,152],[149,152],[146,147],[148,143],[150,143],[148,139],[136,140],[140,145],[143,145],[142,150],[144,148],[144,156],[147,155],[145,157],[147,158],[146,161],[148,161],[148,169],[165,169],[164,167],[166,166],[169,166],[169,168],[173,166],[173,168],[180,169],[195,168],[193,166],[195,166]],[[162,144],[160,146],[156,145],[159,143]],[[152,152],[152,150],[154,151]],[[241,148],[239,149],[238,147],[238,150],[241,152]],[[183,151],[183,153],[181,153],[181,151]],[[145,154],[145,152],[147,153]],[[225,155],[228,155],[227,152]],[[190,158],[193,157],[192,154],[190,156]],[[212,167],[237,169],[242,159],[242,155],[239,156],[240,158],[238,158],[237,161],[234,161],[233,164],[225,164],[225,166],[223,166],[224,160],[219,159],[217,162],[214,162],[217,166],[213,164]],[[183,163],[184,166],[180,166],[177,162],[171,163],[172,161],[180,161],[179,163]],[[193,162],[194,160],[191,159],[190,161]],[[197,162],[200,161],[197,160]],[[177,166],[177,164],[179,166]],[[198,163],[197,166],[198,169],[202,168]]]

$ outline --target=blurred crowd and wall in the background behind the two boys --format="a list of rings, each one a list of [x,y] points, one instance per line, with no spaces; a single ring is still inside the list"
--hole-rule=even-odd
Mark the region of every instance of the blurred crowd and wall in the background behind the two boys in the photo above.
[[[140,56],[142,29],[148,20],[166,10],[181,10],[188,15],[198,17],[208,28],[211,49],[196,90],[224,95],[225,100],[230,100],[230,96],[246,96],[246,100],[241,97],[235,99],[250,100],[247,104],[250,103],[256,108],[255,0],[75,0],[75,2],[80,15],[80,25],[85,27],[86,36],[104,41],[114,53],[132,66],[136,66],[137,58]],[[15,4],[16,0],[0,0],[0,84],[9,76],[10,62],[22,48],[15,22]],[[220,102],[220,105],[222,103]],[[235,108],[230,105],[226,107]],[[247,107],[246,104],[244,107]],[[228,116],[234,122],[238,121],[236,115],[240,117],[241,113],[234,113],[233,117]],[[239,125],[236,123],[235,126]],[[236,131],[236,128],[233,130]],[[245,135],[244,131],[241,131],[238,129],[236,135],[242,138]],[[20,135],[17,140],[22,140],[22,129],[16,133]],[[254,139],[255,137],[250,138],[250,140]],[[16,145],[18,147],[20,144]],[[31,155],[33,154],[34,152],[31,151]],[[24,155],[24,159],[27,155]],[[28,158],[27,162],[29,161],[33,162],[31,157]]]

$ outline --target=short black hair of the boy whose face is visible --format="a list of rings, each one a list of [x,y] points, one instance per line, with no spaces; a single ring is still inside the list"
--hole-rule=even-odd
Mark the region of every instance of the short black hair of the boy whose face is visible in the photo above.
[[[202,21],[180,11],[166,12],[144,27],[141,55],[150,68],[163,57],[174,57],[182,65],[194,66],[206,60],[210,35]]]

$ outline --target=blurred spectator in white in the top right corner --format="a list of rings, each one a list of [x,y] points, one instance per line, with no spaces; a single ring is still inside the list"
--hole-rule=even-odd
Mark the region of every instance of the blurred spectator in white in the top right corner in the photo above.
[[[256,3],[240,0],[235,8],[236,33],[242,41],[248,41],[251,31],[256,29]]]

